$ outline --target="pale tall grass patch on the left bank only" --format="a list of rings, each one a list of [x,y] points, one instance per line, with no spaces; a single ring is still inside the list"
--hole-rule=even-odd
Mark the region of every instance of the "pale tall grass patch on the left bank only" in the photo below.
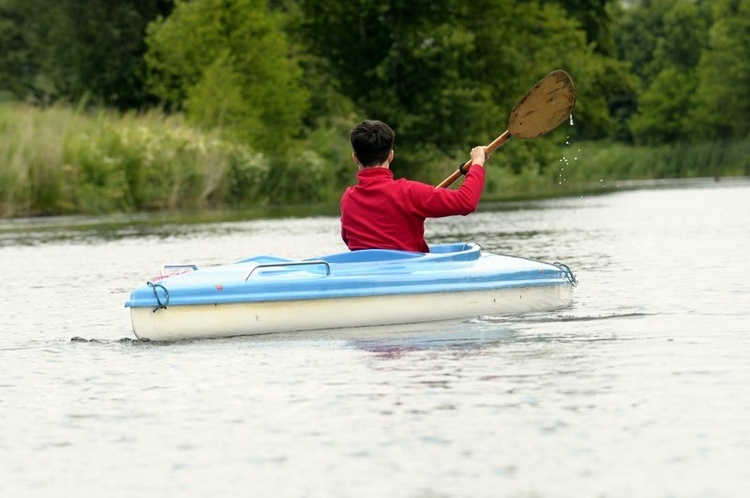
[[[0,105],[0,216],[256,201],[268,160],[159,112]],[[239,186],[239,188],[238,188]]]

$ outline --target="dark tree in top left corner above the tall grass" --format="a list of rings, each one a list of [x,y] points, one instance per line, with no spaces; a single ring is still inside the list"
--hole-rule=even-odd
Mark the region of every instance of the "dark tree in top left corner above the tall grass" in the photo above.
[[[171,0],[4,0],[5,90],[37,101],[147,104],[145,28],[171,8]]]

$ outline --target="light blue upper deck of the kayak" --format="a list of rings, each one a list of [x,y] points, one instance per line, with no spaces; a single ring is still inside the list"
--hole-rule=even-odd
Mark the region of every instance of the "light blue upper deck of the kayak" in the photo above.
[[[188,268],[189,271],[184,268]],[[160,277],[134,289],[126,307],[294,301],[567,285],[564,265],[490,253],[473,243],[430,253],[383,249],[294,260],[260,255]]]

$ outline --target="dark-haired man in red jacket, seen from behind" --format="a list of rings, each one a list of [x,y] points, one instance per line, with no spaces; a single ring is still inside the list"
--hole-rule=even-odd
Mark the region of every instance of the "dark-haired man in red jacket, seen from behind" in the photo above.
[[[350,134],[357,184],[341,197],[341,238],[351,250],[398,249],[429,252],[427,218],[467,215],[476,210],[484,188],[485,151],[471,149],[471,166],[456,190],[394,179],[395,133],[382,121],[367,120]]]

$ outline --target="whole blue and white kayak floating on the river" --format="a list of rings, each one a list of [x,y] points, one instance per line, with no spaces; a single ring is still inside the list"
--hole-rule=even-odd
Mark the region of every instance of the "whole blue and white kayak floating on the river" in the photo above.
[[[551,311],[570,304],[575,284],[566,265],[455,243],[170,265],[125,306],[139,339],[172,341]]]

